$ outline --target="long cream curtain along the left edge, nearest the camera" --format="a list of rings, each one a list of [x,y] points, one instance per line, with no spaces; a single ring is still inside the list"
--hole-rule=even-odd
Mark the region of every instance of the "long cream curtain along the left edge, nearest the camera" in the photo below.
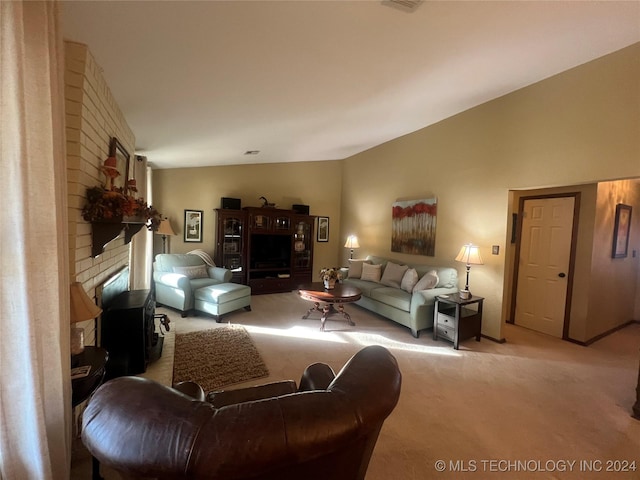
[[[55,2],[0,1],[0,477],[68,479],[69,262]]]

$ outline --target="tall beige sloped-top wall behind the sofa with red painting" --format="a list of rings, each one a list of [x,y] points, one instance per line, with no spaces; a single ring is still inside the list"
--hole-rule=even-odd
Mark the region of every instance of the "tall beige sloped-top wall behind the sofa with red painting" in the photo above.
[[[640,176],[639,58],[635,44],[345,160],[342,228],[358,256],[391,254],[394,201],[436,196],[435,258],[406,260],[462,276],[453,258],[479,245],[470,283],[487,299],[483,333],[502,338],[509,190]]]

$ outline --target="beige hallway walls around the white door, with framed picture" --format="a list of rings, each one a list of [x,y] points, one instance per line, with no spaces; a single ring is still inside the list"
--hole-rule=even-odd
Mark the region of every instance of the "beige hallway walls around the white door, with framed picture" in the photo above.
[[[518,211],[520,198],[579,193],[576,258],[569,319],[569,338],[588,342],[598,335],[640,319],[634,312],[634,298],[640,296],[640,258],[632,250],[640,245],[640,218],[632,215],[629,256],[611,258],[616,204],[625,203],[640,211],[640,180],[512,192],[510,212]],[[509,228],[509,235],[511,235]],[[634,247],[635,246],[635,247]],[[515,245],[507,246],[504,318],[510,319]]]

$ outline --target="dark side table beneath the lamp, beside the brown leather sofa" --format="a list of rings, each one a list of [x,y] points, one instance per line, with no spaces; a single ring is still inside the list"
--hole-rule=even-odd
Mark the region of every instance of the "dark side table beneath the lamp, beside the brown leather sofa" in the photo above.
[[[75,408],[102,385],[109,353],[100,347],[84,347],[82,353],[74,355],[72,358],[74,367],[91,366],[86,377],[71,380],[71,406]],[[91,478],[100,480],[102,478],[100,477],[100,463],[94,456],[91,456],[91,462]]]

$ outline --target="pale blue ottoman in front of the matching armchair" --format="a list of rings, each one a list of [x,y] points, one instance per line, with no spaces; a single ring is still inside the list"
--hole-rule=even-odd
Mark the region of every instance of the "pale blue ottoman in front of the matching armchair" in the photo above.
[[[251,311],[251,288],[237,283],[219,283],[202,287],[194,293],[196,310],[213,315],[216,322],[225,313],[244,308]]]

